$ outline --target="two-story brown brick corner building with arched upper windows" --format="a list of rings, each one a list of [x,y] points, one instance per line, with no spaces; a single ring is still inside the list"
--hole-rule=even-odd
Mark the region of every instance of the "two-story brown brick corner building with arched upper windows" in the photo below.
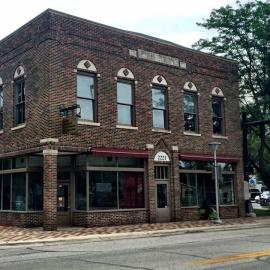
[[[0,224],[244,214],[237,64],[46,10],[0,41]],[[79,106],[78,106],[79,105]]]

